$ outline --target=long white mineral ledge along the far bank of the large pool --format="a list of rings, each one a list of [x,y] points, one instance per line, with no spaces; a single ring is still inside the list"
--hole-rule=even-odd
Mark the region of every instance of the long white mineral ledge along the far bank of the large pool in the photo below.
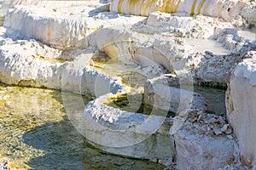
[[[81,54],[73,61],[58,62],[61,52],[36,42],[14,41],[1,28],[0,81],[20,86],[63,89],[76,93],[102,94],[129,91],[121,78],[110,77],[90,65],[93,54]],[[102,87],[96,86],[96,83]]]

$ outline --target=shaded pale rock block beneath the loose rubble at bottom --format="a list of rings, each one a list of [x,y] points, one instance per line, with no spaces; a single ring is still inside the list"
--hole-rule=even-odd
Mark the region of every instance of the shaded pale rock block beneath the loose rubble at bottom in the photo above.
[[[236,156],[235,140],[191,133],[182,128],[174,134],[177,169],[218,169]]]

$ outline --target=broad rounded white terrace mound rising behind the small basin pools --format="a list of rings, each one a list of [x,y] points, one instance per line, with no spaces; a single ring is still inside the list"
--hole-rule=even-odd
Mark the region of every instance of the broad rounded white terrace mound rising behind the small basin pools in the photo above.
[[[178,19],[176,16],[160,13],[151,14],[148,20],[146,24],[142,22],[133,26],[103,28],[85,38],[81,43],[84,44],[83,47],[99,48],[112,59],[119,59],[125,63],[134,59],[142,65],[156,63],[163,65],[166,70],[172,71],[179,77],[192,77],[194,82],[219,83],[221,86],[225,86],[225,74],[241,62],[248,51],[255,48],[255,42],[241,37],[230,24],[228,24],[230,29],[224,28],[224,23],[218,20],[208,20],[206,17],[198,17],[195,20],[185,17]],[[156,22],[150,20],[156,20]],[[191,23],[196,23],[195,26],[202,28],[194,28],[194,24],[192,27],[184,26],[184,20],[191,20]],[[201,24],[206,20],[208,22],[206,26]],[[156,28],[150,30],[150,25],[147,23],[154,23]],[[172,25],[176,24],[177,28],[168,35],[164,34],[165,31],[159,33],[165,29],[170,31]],[[201,35],[200,31],[195,31],[194,36],[212,37],[212,41],[194,39],[189,42],[190,40],[184,38],[186,32],[209,30],[207,27],[210,26],[214,27],[214,33]],[[178,34],[178,32],[183,33]],[[216,41],[220,42],[219,48],[213,48],[216,46]],[[193,46],[193,44],[196,45]],[[218,50],[224,50],[224,53],[218,54]]]

